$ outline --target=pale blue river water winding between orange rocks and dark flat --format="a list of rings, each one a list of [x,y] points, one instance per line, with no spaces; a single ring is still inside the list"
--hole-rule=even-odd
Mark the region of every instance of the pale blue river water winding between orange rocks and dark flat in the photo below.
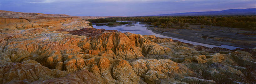
[[[132,24],[134,24],[134,26],[126,27],[125,25],[122,25],[122,26],[117,26],[117,27],[108,27],[106,25],[98,26],[98,24],[97,25],[93,24],[93,27],[96,28],[96,29],[118,30],[122,33],[130,32],[130,33],[141,34],[141,35],[155,35],[156,37],[171,38],[173,40],[178,40],[180,42],[186,42],[186,43],[190,43],[190,44],[194,44],[194,45],[207,46],[207,47],[210,47],[210,48],[213,48],[213,47],[223,47],[223,48],[228,48],[228,49],[239,48],[239,47],[228,46],[228,45],[221,45],[221,46],[208,45],[208,44],[203,44],[203,43],[198,43],[198,42],[191,42],[191,41],[188,41],[188,40],[163,36],[163,35],[160,35],[160,34],[153,33],[151,30],[148,30],[146,27],[143,27],[145,25],[148,25],[147,23],[143,23],[143,22],[133,22],[133,21],[117,21],[117,22],[132,22]]]

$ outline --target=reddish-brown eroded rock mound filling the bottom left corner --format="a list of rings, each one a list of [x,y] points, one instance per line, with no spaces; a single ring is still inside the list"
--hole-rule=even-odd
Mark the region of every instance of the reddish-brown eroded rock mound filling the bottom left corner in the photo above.
[[[5,62],[0,61],[0,82],[5,83],[30,83],[37,80],[46,80],[56,77],[63,77],[68,72],[60,70],[50,70],[42,66],[34,60],[27,60],[22,63],[19,62]]]

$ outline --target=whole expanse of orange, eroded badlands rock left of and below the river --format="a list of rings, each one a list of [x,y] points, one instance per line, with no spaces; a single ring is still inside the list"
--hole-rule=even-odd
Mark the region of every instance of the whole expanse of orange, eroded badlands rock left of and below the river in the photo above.
[[[0,16],[1,84],[256,83],[256,48],[208,48],[85,20],[101,17]]]

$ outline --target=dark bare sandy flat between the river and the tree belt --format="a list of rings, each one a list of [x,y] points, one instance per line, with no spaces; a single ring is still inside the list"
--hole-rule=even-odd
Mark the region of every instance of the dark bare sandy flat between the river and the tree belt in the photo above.
[[[236,28],[204,26],[204,28],[201,29],[200,25],[190,25],[188,29],[158,28],[149,26],[147,26],[147,29],[164,36],[210,45],[229,45],[242,48],[256,47],[256,35],[251,35],[251,33],[255,32],[239,30]]]

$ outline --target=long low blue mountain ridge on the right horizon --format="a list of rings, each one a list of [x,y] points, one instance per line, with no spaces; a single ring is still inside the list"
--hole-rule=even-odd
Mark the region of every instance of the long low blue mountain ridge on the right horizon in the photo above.
[[[256,15],[256,8],[248,9],[228,9],[223,11],[186,12],[149,16],[196,16],[196,15]]]

